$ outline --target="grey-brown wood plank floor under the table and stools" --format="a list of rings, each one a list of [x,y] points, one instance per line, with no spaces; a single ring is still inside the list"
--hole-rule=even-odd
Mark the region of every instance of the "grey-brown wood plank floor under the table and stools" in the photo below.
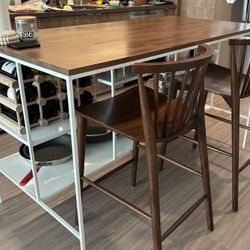
[[[246,111],[245,100],[243,110]],[[230,148],[230,127],[207,118],[207,134],[211,143]],[[0,136],[0,157],[16,152],[18,143],[7,135]],[[197,150],[179,140],[169,147],[169,155],[194,168],[199,168]],[[241,151],[241,162],[250,156]],[[163,243],[170,250],[248,250],[250,249],[250,168],[240,177],[239,212],[231,211],[231,159],[209,151],[214,211],[214,232],[207,231],[204,206],[201,205]],[[11,166],[10,166],[11,167]],[[102,184],[149,211],[146,166],[141,156],[138,185],[129,186],[129,168],[113,175]],[[197,200],[202,193],[201,179],[165,165],[159,174],[162,231]],[[79,249],[79,242],[66,229],[45,213],[16,186],[0,175],[0,249],[1,250],[68,250]],[[152,249],[150,224],[127,208],[94,189],[84,193],[83,208],[88,250]],[[75,198],[72,190],[50,201],[54,209],[70,223],[74,221]]]

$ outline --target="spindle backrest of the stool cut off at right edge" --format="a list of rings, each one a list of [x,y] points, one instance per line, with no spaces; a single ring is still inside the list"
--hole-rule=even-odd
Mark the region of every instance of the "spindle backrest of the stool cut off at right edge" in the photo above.
[[[250,38],[230,39],[229,45],[231,51],[232,84],[240,84],[239,94],[241,98],[248,97],[250,96],[250,51],[248,55],[247,47],[249,46],[250,48]],[[247,63],[246,72],[243,72],[245,63]]]

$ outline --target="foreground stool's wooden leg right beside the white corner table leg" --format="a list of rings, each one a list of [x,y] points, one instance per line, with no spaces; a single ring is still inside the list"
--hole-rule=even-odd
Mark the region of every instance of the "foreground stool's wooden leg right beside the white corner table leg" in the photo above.
[[[86,128],[87,120],[78,116],[77,138],[78,138],[78,155],[79,155],[79,175],[80,175],[80,189],[83,195],[83,180],[84,176],[84,163],[85,163],[85,141],[86,141]],[[75,212],[75,224],[78,225],[77,212]]]

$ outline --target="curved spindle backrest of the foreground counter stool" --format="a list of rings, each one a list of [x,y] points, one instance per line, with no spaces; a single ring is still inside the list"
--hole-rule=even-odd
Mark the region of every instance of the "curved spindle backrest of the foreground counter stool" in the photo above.
[[[213,55],[213,49],[209,45],[200,45],[197,52],[197,56],[180,61],[133,65],[134,72],[138,74],[145,141],[167,141],[190,130],[196,114],[197,97],[203,89],[204,74]],[[159,74],[166,72],[170,76],[168,94],[162,102],[162,95],[158,92]],[[182,76],[178,75],[180,72],[184,72]],[[153,96],[147,94],[143,79],[143,74],[148,73],[154,75]],[[149,98],[154,98],[153,105],[150,105],[152,100]]]

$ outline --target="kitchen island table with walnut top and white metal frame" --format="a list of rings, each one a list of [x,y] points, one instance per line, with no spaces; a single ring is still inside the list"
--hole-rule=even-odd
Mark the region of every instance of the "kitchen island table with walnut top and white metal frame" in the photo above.
[[[41,30],[39,31],[40,48],[13,50],[0,46],[0,57],[16,63],[26,134],[20,135],[13,128],[8,127],[1,118],[0,128],[26,144],[31,157],[29,164],[18,153],[7,156],[0,160],[0,172],[75,235],[80,240],[80,248],[85,249],[84,211],[79,188],[76,115],[72,81],[106,71],[113,72],[115,69],[132,65],[135,62],[149,61],[192,49],[200,43],[220,42],[245,33],[250,33],[249,24],[186,17],[157,17]],[[57,120],[48,127],[30,128],[22,65],[66,81],[69,120]],[[112,81],[115,82],[115,79]],[[53,175],[61,178],[60,182],[58,182],[58,178],[54,178],[54,182],[50,186],[46,186],[46,181],[39,181],[37,176],[33,147],[69,132],[72,143],[72,161],[64,163],[58,168],[55,166]],[[70,174],[72,166],[74,179],[69,180],[65,177]],[[34,176],[32,184],[26,187],[19,186],[19,181],[30,169]],[[46,195],[51,196],[53,193],[58,193],[72,182],[75,183],[79,230],[66,222],[43,201],[43,197]]]

